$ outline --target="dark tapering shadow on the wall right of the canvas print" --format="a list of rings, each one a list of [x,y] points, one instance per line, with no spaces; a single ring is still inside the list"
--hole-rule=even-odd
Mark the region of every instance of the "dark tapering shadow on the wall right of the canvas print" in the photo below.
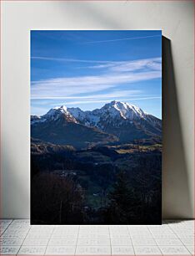
[[[163,37],[163,218],[193,217],[171,41]]]

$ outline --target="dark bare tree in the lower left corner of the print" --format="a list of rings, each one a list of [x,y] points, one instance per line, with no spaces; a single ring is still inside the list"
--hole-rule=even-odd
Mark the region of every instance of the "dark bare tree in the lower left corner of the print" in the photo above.
[[[32,223],[82,223],[83,200],[82,187],[72,178],[41,173],[31,183]]]

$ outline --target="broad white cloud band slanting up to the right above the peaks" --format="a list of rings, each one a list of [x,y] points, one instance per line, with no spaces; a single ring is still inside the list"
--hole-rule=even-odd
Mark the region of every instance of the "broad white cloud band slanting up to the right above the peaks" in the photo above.
[[[160,71],[101,74],[97,76],[81,76],[70,78],[44,79],[32,82],[32,98],[65,97],[77,94],[94,93],[117,87],[118,84],[131,84],[138,81],[158,79]]]

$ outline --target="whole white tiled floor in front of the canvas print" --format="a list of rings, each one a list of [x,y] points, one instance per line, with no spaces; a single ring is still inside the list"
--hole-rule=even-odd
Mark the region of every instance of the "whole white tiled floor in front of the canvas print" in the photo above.
[[[194,255],[194,221],[162,226],[30,226],[0,220],[0,255]]]

